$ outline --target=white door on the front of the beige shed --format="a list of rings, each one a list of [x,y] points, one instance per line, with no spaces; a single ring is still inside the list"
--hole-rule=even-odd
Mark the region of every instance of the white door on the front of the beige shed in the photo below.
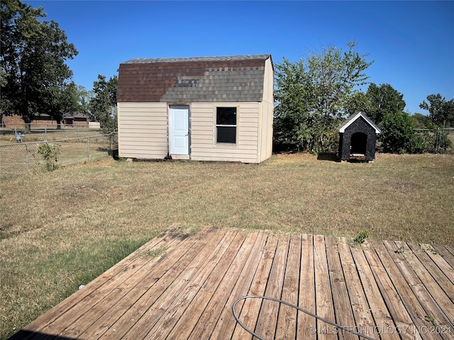
[[[189,106],[170,106],[170,154],[189,155]]]

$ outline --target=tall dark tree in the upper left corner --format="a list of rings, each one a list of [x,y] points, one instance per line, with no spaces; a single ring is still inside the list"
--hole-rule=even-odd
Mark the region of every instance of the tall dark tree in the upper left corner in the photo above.
[[[44,17],[42,7],[1,1],[1,109],[26,124],[51,111],[55,89],[72,77],[65,61],[77,55],[65,32]]]

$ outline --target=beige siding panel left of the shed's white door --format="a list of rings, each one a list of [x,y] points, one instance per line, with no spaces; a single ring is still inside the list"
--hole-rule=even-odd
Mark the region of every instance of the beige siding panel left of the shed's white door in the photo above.
[[[126,158],[167,156],[167,103],[118,103],[118,149]]]

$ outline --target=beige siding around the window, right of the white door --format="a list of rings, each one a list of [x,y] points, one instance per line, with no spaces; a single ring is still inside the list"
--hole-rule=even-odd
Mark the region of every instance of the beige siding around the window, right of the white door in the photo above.
[[[237,106],[236,145],[216,145],[216,106]],[[192,103],[191,159],[258,163],[260,103]]]

